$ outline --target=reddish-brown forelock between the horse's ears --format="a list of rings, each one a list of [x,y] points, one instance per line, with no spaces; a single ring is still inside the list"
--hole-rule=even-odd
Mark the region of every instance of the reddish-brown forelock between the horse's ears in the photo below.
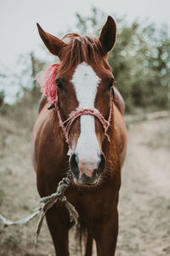
[[[63,56],[62,68],[75,67],[85,61],[89,64],[90,61],[99,63],[102,47],[98,38],[88,35],[80,35],[77,33],[66,34],[62,38],[67,44],[61,49]]]

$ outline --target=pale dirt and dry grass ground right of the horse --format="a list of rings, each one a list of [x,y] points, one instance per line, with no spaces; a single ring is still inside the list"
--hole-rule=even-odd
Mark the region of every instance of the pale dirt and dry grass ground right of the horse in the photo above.
[[[170,119],[128,130],[117,256],[170,255]]]

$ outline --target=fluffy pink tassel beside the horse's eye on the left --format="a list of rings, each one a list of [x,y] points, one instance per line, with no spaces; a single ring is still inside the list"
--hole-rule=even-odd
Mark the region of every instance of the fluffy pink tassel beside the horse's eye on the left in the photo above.
[[[59,64],[52,64],[37,76],[37,81],[41,85],[41,91],[48,96],[49,103],[55,103],[57,100],[57,84],[55,82]]]

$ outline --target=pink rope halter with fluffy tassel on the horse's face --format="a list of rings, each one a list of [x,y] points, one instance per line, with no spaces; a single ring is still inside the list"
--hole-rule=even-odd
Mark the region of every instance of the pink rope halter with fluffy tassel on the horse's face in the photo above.
[[[54,104],[55,111],[58,115],[59,119],[59,126],[62,128],[63,133],[65,135],[66,143],[68,143],[69,146],[71,146],[69,141],[69,132],[71,131],[71,125],[74,123],[74,121],[83,114],[90,114],[95,116],[97,119],[99,119],[101,125],[103,126],[103,129],[105,131],[105,137],[107,137],[108,141],[110,142],[110,137],[107,134],[109,125],[111,124],[111,108],[109,113],[109,118],[106,120],[102,113],[99,112],[97,108],[77,108],[76,110],[73,110],[69,114],[69,118],[63,121],[59,109],[59,101],[58,101],[58,88],[57,84],[55,82],[57,71],[59,68],[59,64],[52,64],[49,66],[45,71],[42,71],[37,76],[37,81],[41,85],[41,91],[45,96],[48,96],[48,102],[51,104]],[[112,103],[112,102],[111,102]],[[52,107],[49,107],[48,109],[51,109]]]

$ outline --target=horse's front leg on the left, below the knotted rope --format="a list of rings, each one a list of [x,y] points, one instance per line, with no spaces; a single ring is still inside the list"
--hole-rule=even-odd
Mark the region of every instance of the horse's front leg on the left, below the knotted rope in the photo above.
[[[60,213],[60,214],[59,214]],[[54,241],[55,253],[57,256],[68,256],[68,231],[70,225],[68,219],[63,219],[63,212],[54,206],[48,210],[46,219],[48,223],[48,229]]]

